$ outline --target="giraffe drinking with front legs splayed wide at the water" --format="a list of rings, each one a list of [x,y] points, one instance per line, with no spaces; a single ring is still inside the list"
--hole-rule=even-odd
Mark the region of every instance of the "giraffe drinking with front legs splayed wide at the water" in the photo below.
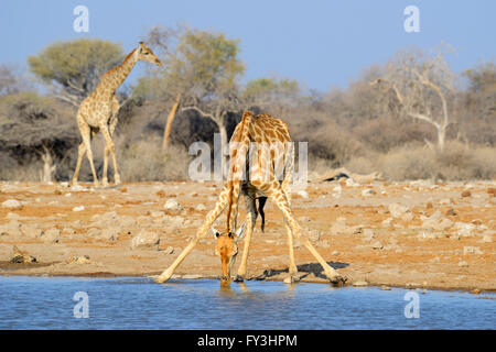
[[[208,228],[212,227],[226,206],[228,207],[226,232],[218,232],[212,228],[217,242],[216,252],[220,256],[222,262],[220,284],[228,286],[230,283],[230,268],[238,253],[237,243],[246,232],[241,264],[236,276],[236,280],[242,280],[246,275],[246,263],[251,233],[257,219],[256,199],[259,199],[259,211],[262,215],[263,223],[263,205],[266,199],[270,198],[276,202],[284,217],[290,254],[290,280],[296,282],[299,279],[293,252],[293,237],[295,237],[296,239],[301,239],[304,246],[315,256],[332,283],[343,283],[345,278],[324,261],[306,237],[301,235],[300,226],[291,212],[290,187],[294,168],[294,148],[287,124],[268,114],[255,117],[251,112],[246,111],[230,139],[229,148],[229,176],[214,210],[207,215],[196,237],[155,282],[163,283],[172,276],[177,265],[180,265],[197,242],[205,237]],[[249,168],[248,172],[246,170],[247,167]],[[246,180],[242,177],[244,172],[248,174],[245,177]],[[234,231],[236,229],[238,213],[238,199],[241,194],[245,198],[247,220],[238,231]]]

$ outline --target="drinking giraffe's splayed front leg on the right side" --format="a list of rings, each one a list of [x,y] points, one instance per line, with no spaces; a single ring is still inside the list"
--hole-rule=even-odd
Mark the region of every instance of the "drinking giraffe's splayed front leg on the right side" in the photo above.
[[[300,224],[293,218],[291,209],[288,205],[288,200],[284,197],[283,191],[280,188],[272,188],[270,191],[270,198],[276,202],[276,205],[281,209],[285,220],[288,221],[292,234],[300,239],[303,245],[313,254],[313,256],[319,261],[319,263],[324,268],[325,276],[333,283],[339,284],[344,283],[346,279],[343,278],[334,268],[332,268],[324,258],[319,254],[315,248],[310,243],[309,239],[300,233]]]

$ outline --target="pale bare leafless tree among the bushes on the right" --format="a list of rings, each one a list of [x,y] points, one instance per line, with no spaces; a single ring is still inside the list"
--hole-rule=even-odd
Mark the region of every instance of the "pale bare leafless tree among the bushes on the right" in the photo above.
[[[386,65],[384,78],[370,82],[388,87],[402,113],[433,125],[440,152],[444,151],[446,130],[452,124],[448,100],[454,92],[455,75],[444,59],[448,50],[441,46],[435,55],[402,52]]]

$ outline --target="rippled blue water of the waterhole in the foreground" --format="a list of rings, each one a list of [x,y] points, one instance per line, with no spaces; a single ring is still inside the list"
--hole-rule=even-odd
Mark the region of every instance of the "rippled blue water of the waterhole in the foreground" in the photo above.
[[[88,318],[76,318],[77,292]],[[419,318],[406,318],[418,294]],[[0,329],[495,329],[496,295],[213,279],[0,277]],[[80,306],[78,306],[80,308]],[[410,310],[409,310],[410,311]]]

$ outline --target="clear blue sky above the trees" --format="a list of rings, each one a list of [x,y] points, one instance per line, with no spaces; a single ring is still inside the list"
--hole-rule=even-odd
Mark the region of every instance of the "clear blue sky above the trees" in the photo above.
[[[78,4],[89,9],[89,33],[73,31]],[[420,33],[403,30],[410,4],[420,10]],[[153,25],[177,22],[239,38],[244,81],[274,74],[321,91],[346,87],[363,68],[409,46],[451,44],[455,72],[496,57],[494,0],[17,0],[2,2],[0,11],[0,63],[21,67],[58,40],[99,37],[130,52]],[[139,64],[130,82],[145,65]]]

